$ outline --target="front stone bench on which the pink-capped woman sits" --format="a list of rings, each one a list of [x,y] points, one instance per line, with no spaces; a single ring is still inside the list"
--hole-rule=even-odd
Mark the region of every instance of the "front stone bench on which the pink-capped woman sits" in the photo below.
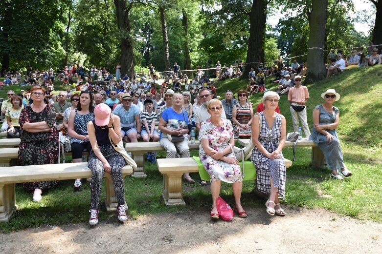
[[[130,176],[132,173],[133,168],[130,165],[122,168],[122,176]],[[76,178],[91,178],[87,162],[0,168],[0,221],[8,221],[17,210],[15,183]],[[115,211],[118,205],[117,198],[112,177],[107,173],[105,174],[105,189],[106,209]]]

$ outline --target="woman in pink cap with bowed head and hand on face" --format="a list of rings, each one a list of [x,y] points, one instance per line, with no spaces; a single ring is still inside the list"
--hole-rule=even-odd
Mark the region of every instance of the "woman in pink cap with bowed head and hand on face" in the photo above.
[[[114,192],[117,197],[117,213],[120,221],[125,221],[125,187],[122,177],[122,168],[125,159],[114,150],[112,143],[121,141],[121,120],[111,114],[108,105],[101,103],[94,108],[94,120],[88,123],[88,135],[92,150],[90,152],[88,166],[91,176],[91,202],[90,202],[90,225],[98,223],[98,203],[101,195],[102,177],[105,172],[112,176]],[[111,143],[112,140],[112,143]]]

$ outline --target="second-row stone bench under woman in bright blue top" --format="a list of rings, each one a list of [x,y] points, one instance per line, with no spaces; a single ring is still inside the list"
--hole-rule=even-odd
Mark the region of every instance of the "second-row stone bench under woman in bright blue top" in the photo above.
[[[188,148],[190,150],[199,149],[199,140],[195,140],[195,144],[191,144],[188,141]],[[144,171],[145,156],[147,152],[161,152],[166,151],[159,142],[138,142],[138,143],[126,143],[125,149],[127,152],[132,153],[132,158],[135,160],[137,169],[133,173],[133,177],[144,178],[146,173]]]

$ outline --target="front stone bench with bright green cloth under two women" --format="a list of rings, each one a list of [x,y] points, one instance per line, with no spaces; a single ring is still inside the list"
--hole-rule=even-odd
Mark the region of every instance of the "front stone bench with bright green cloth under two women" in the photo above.
[[[292,161],[285,159],[285,166]],[[182,177],[184,173],[199,172],[199,165],[193,158],[157,159],[157,167],[163,175],[163,199],[166,205],[185,205]]]

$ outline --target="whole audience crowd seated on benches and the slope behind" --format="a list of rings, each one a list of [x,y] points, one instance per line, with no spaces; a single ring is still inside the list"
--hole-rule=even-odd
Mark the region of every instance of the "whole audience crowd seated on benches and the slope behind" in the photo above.
[[[371,52],[373,58],[375,50],[372,49]],[[116,81],[105,68],[98,70],[92,67],[88,75],[81,66],[70,66],[59,70],[58,79],[64,80],[65,84],[65,78],[69,82],[69,78],[76,77],[70,80],[73,88],[67,86],[66,91],[59,91],[55,97],[52,97],[53,86],[49,82],[45,83],[45,79],[54,80],[55,75],[51,68],[42,73],[30,72],[29,75],[35,76],[32,79],[36,80],[30,83],[26,77],[26,83],[36,85],[25,93],[22,90],[19,95],[9,90],[8,99],[2,103],[1,110],[7,118],[2,130],[7,131],[10,138],[19,135],[20,165],[57,163],[59,131],[63,131],[70,139],[73,163],[82,161],[84,151],[90,153],[88,165],[92,171],[91,225],[98,222],[98,201],[104,172],[112,174],[118,199],[118,218],[121,221],[127,218],[121,191],[121,169],[125,160],[114,150],[113,144],[122,141],[159,141],[167,151],[167,158],[190,157],[188,140],[193,128],[199,133],[201,162],[210,175],[211,218],[219,218],[216,200],[221,181],[232,183],[235,210],[239,216],[247,216],[240,202],[243,178],[233,146],[238,138],[249,137],[252,137],[255,145],[251,161],[256,166],[256,188],[270,194],[266,212],[284,216],[279,197],[285,197],[286,167],[282,148],[286,141],[286,119],[280,114],[278,102],[280,96],[285,94],[288,94],[291,105],[293,130],[298,131],[301,122],[305,136],[316,142],[323,151],[326,163],[332,170],[331,176],[342,179],[339,171],[343,176],[352,175],[343,162],[339,146],[336,131],[339,110],[333,103],[340,96],[334,89],[322,94],[324,103],[315,107],[312,133],[309,129],[306,110],[309,92],[307,87],[301,85],[302,72],[306,65],[300,66],[294,60],[290,67],[285,67],[282,59],[279,59],[278,66],[276,64],[273,70],[266,73],[259,70],[256,74],[251,68],[248,86],[240,89],[236,98],[231,90],[227,90],[222,100],[217,99],[214,81],[210,81],[198,70],[197,77],[188,83],[188,77],[178,78],[181,73],[176,66],[177,64],[174,66],[171,89],[168,88],[167,80],[157,89],[154,79],[150,81],[135,76],[129,78],[127,75],[120,77],[120,64],[116,67],[116,70],[119,69]],[[222,75],[219,61],[216,67],[219,78]],[[328,73],[329,70],[330,68]],[[241,72],[240,68],[238,71]],[[78,75],[79,73],[83,76]],[[153,74],[154,68],[150,69],[149,75]],[[104,75],[103,80],[98,79],[99,75]],[[275,76],[275,81],[279,84],[277,92],[266,90],[266,76]],[[93,84],[94,77],[97,79]],[[225,78],[234,77],[230,74]],[[101,85],[102,82],[106,83]],[[259,92],[265,93],[262,103],[254,112],[248,97]],[[157,154],[147,151],[146,158],[155,163]],[[190,183],[195,182],[188,173],[183,175],[183,179]],[[58,181],[25,183],[23,187],[26,191],[33,192],[33,200],[38,202],[42,199],[42,193],[57,183]],[[208,184],[203,180],[200,183]],[[76,179],[73,186],[79,191],[82,187],[81,179]]]

